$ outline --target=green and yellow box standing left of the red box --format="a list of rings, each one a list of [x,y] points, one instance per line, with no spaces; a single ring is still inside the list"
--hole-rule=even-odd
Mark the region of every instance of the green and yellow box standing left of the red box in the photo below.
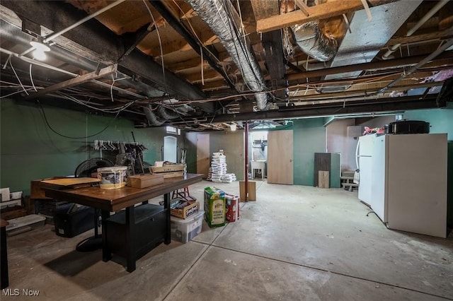
[[[225,225],[225,192],[216,187],[205,188],[205,218],[210,227]]]

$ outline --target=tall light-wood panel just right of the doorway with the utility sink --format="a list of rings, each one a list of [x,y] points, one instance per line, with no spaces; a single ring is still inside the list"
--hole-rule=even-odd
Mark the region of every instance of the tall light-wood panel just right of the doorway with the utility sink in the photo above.
[[[294,184],[292,130],[268,133],[268,182]]]

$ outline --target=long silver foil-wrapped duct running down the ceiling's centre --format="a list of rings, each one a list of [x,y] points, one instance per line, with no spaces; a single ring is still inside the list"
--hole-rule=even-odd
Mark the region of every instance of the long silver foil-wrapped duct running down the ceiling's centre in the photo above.
[[[210,26],[219,37],[226,51],[241,71],[246,85],[256,94],[256,105],[259,110],[267,110],[268,97],[265,93],[265,83],[260,67],[248,45],[239,34],[241,28],[239,15],[229,0],[185,0],[197,12],[198,16]],[[262,93],[260,93],[262,92]]]

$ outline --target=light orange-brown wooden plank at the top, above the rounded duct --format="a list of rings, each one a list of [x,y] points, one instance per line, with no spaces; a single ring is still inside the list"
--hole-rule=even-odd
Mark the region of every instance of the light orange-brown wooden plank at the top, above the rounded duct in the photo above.
[[[369,6],[379,6],[389,4],[398,0],[369,0]],[[325,4],[310,6],[306,8],[306,14],[303,11],[297,10],[282,15],[272,16],[256,20],[256,31],[258,33],[266,33],[271,30],[286,28],[297,23],[305,23],[313,20],[323,20],[335,16],[341,16],[343,13],[352,13],[363,9],[362,1],[329,1]]]

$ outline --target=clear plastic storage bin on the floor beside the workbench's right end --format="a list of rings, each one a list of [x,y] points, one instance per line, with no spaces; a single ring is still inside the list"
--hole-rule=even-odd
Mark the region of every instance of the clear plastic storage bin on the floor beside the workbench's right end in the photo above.
[[[205,211],[199,211],[190,218],[171,217],[171,239],[177,242],[188,242],[201,232]]]

